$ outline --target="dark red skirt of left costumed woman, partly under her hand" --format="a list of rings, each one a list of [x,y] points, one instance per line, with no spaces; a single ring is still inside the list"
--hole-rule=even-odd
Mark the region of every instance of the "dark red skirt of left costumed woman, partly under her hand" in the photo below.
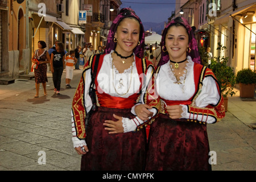
[[[108,134],[105,120],[116,119],[113,114],[133,118],[131,109],[98,107],[92,114],[86,143],[88,154],[82,155],[81,170],[132,171],[144,170],[146,160],[146,131]]]

